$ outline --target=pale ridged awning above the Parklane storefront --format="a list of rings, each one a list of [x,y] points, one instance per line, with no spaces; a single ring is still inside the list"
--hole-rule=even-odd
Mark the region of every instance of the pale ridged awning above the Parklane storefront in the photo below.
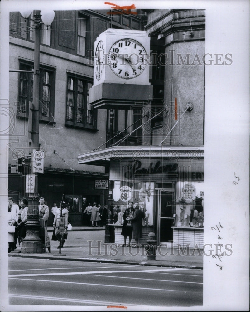
[[[77,160],[82,164],[109,166],[110,160],[122,161],[126,158],[201,159],[204,158],[204,146],[117,146],[80,154]]]

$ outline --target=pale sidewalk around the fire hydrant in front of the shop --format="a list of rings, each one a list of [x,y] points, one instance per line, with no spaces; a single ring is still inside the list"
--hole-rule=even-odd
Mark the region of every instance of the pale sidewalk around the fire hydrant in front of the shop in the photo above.
[[[53,228],[47,231],[51,239]],[[81,232],[88,231],[88,232]],[[147,259],[143,246],[139,248],[116,246],[114,243],[104,243],[105,227],[75,226],[69,232],[68,239],[61,254],[57,249],[58,242],[51,241],[51,253],[46,249],[42,254],[22,254],[21,245],[9,253],[9,257],[24,257],[35,259],[53,259],[66,261],[89,261],[103,263],[121,263],[132,265],[164,266],[175,268],[203,269],[202,251],[189,251],[171,248],[168,245],[159,246],[156,251],[156,260]]]

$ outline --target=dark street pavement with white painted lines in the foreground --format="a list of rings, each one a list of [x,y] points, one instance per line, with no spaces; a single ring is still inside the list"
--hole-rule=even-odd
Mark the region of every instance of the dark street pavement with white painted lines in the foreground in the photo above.
[[[8,269],[12,307],[35,305],[35,311],[39,306],[45,311],[42,306],[51,305],[48,311],[54,311],[60,305],[60,311],[73,311],[80,305],[81,311],[106,311],[112,305],[116,311],[166,311],[175,306],[193,311],[203,303],[203,270],[17,257],[9,258]]]

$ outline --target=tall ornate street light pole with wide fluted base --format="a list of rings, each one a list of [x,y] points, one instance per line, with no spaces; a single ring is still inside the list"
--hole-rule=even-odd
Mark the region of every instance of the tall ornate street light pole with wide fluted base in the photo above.
[[[39,149],[39,76],[40,76],[40,10],[34,10],[35,38],[34,38],[34,74],[33,74],[33,105],[32,105],[32,139],[31,139],[31,175],[33,174],[33,150]],[[42,253],[42,240],[39,237],[39,209],[38,209],[38,176],[35,175],[34,193],[28,196],[28,212],[26,237],[22,242],[21,253]]]

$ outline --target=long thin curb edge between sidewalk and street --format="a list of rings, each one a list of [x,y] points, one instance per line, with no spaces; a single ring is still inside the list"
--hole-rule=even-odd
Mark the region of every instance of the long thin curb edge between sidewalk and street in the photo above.
[[[17,254],[9,254],[9,257],[20,257],[20,258],[32,258],[32,259],[46,259],[46,260],[65,260],[65,261],[78,261],[78,262],[97,262],[97,263],[119,263],[119,264],[131,264],[131,265],[139,265],[139,266],[157,266],[157,267],[170,267],[170,268],[182,268],[182,269],[198,269],[203,270],[202,266],[185,266],[185,265],[175,265],[175,264],[153,264],[153,263],[145,263],[145,262],[133,262],[133,261],[120,261],[118,259],[91,259],[91,258],[81,258],[81,259],[72,259],[65,258],[64,256],[26,256],[26,255],[17,255]],[[157,261],[157,260],[156,260]]]

